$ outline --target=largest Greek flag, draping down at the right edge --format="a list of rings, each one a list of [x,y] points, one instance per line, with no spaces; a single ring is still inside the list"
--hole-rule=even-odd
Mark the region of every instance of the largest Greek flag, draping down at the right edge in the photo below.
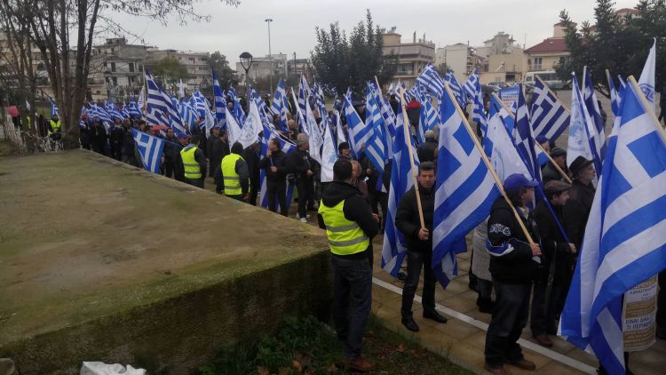
[[[625,372],[622,294],[666,268],[666,140],[642,96],[635,81],[622,96],[559,323],[612,374]]]

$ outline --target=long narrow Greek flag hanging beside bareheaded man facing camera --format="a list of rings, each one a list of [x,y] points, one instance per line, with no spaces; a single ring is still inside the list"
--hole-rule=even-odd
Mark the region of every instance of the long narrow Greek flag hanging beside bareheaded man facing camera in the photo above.
[[[386,210],[386,224],[384,243],[382,245],[382,268],[393,277],[398,277],[402,259],[407,255],[405,238],[395,227],[395,214],[402,195],[414,187],[411,163],[409,161],[409,148],[405,138],[405,124],[402,120],[402,105],[396,114],[395,143],[393,145],[391,167],[391,189],[389,190],[388,209]]]

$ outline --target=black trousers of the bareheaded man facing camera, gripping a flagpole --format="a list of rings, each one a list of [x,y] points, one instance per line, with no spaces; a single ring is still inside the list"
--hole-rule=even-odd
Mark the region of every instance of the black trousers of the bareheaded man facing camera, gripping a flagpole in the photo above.
[[[407,279],[402,288],[402,307],[400,313],[403,318],[412,317],[412,304],[414,303],[414,294],[418,288],[418,279],[421,276],[421,269],[424,274],[424,295],[421,303],[424,306],[424,313],[435,311],[435,284],[437,278],[432,272],[432,252],[407,251]]]

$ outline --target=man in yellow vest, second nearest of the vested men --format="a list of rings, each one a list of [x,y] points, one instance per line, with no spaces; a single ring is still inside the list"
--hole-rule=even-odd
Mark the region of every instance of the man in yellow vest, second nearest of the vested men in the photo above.
[[[237,201],[247,202],[250,187],[248,164],[242,158],[242,144],[235,142],[231,154],[222,158],[215,172],[215,191]]]

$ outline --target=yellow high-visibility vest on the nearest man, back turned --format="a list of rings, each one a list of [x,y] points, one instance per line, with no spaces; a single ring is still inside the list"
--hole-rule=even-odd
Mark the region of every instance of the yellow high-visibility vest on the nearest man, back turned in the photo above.
[[[368,249],[370,240],[355,221],[345,219],[345,201],[334,207],[327,207],[323,201],[319,213],[326,224],[330,252],[337,255],[351,255]]]

